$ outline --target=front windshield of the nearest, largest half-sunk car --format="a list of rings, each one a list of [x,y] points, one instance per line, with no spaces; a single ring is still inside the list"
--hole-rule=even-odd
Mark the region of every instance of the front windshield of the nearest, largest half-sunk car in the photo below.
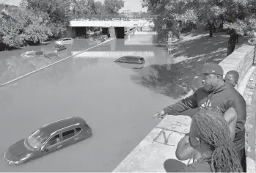
[[[30,148],[37,150],[43,146],[43,143],[48,139],[48,136],[45,133],[37,130],[28,139],[26,139],[26,143]]]

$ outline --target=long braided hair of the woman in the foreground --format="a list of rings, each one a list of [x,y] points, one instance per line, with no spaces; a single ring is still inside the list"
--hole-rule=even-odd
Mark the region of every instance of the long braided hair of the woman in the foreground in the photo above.
[[[229,126],[223,116],[210,110],[194,115],[191,127],[197,137],[213,150],[208,162],[215,172],[243,172],[238,154],[230,138]]]

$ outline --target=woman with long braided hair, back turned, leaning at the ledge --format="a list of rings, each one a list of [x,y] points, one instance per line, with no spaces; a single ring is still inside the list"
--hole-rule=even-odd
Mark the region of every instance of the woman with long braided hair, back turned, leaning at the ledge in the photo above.
[[[202,110],[195,114],[187,140],[202,158],[178,172],[243,172],[230,140],[229,125],[217,112]]]

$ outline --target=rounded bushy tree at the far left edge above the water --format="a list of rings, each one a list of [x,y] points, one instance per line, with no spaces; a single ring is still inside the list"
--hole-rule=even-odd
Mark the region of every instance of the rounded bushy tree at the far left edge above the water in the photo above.
[[[11,48],[43,42],[52,34],[43,18],[29,10],[7,9],[1,15],[1,41]]]

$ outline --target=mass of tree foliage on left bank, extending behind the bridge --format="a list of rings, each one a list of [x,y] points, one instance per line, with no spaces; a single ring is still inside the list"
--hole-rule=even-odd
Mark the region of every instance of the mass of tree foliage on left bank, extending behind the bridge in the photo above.
[[[0,4],[0,51],[62,37],[74,15],[116,15],[122,7],[122,0],[22,0],[20,7]]]

